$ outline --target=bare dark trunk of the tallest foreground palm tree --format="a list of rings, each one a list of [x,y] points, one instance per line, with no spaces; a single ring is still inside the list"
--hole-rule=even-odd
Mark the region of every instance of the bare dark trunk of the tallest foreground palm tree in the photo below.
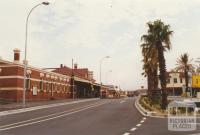
[[[166,109],[167,107],[167,91],[166,91],[166,65],[164,58],[164,49],[162,43],[157,42],[158,48],[158,62],[159,62],[159,71],[160,71],[160,82],[161,82],[161,92],[162,92],[162,104],[161,108]]]

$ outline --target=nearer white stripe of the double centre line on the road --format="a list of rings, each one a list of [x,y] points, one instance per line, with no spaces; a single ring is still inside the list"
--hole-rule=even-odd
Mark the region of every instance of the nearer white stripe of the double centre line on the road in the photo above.
[[[106,103],[108,103],[108,102],[106,102]],[[88,110],[90,108],[101,106],[101,105],[106,104],[106,103],[101,103],[101,104],[89,106],[89,107],[86,107],[86,108],[83,108],[83,109],[80,109],[80,110],[76,110],[76,111],[73,111],[73,112],[69,112],[69,113],[66,113],[66,114],[62,114],[62,115],[59,115],[59,116],[55,116],[55,117],[51,117],[51,118],[47,118],[47,119],[43,119],[43,120],[39,120],[39,121],[35,121],[35,122],[30,122],[30,123],[26,123],[26,124],[12,126],[12,127],[8,127],[8,128],[3,128],[3,129],[0,129],[0,131],[5,131],[5,130],[18,128],[18,127],[24,127],[24,126],[33,125],[33,124],[36,124],[36,123],[41,123],[41,122],[49,121],[49,120],[52,120],[52,119],[68,116],[68,115],[71,115],[71,114],[74,114],[74,113],[78,113],[78,112],[81,112],[81,111],[84,111],[84,110]]]

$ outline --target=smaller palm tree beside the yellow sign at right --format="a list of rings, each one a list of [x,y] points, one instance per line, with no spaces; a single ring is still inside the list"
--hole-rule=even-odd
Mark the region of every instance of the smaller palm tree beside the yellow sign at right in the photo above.
[[[177,67],[176,71],[184,72],[185,75],[185,86],[186,86],[186,92],[188,91],[188,83],[189,83],[189,75],[188,73],[194,73],[195,67],[191,64],[192,59],[189,60],[189,55],[187,53],[184,53],[180,56],[180,58],[177,59]]]

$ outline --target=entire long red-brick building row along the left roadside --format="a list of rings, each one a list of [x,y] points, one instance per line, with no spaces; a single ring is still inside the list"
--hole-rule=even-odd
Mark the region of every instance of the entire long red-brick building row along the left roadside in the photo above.
[[[114,97],[115,91],[107,85],[96,83],[88,68],[73,69],[63,64],[58,68],[39,69],[27,67],[26,100],[51,100],[65,98]],[[20,62],[20,50],[14,50],[14,60],[0,58],[0,99],[20,102],[23,98],[24,64]],[[109,96],[110,95],[110,96]]]

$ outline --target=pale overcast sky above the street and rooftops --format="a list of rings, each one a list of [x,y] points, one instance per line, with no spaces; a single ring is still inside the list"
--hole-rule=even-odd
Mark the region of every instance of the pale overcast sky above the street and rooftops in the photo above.
[[[13,61],[13,49],[24,58],[25,23],[30,9],[42,0],[0,1],[0,57]],[[99,82],[134,90],[146,86],[142,73],[141,36],[146,23],[161,19],[174,31],[172,50],[165,53],[167,70],[188,53],[200,51],[200,0],[49,0],[29,18],[28,60],[39,68],[71,66],[94,71]]]

